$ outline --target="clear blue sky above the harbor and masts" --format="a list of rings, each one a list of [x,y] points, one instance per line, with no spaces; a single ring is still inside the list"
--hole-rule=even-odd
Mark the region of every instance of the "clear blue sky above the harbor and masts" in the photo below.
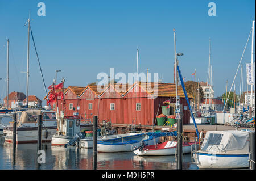
[[[46,16],[38,16],[39,2]],[[216,16],[208,15],[208,3],[216,3]],[[232,84],[252,20],[255,1],[4,1],[0,0],[0,98],[6,96],[6,37],[10,39],[11,91],[26,94],[27,27],[38,49],[46,86],[57,73],[64,86],[86,86],[97,74],[135,72],[137,46],[139,72],[158,72],[163,82],[174,80],[174,33],[177,52],[184,53],[179,65],[185,81],[207,79],[209,38],[212,40],[214,95]],[[255,43],[255,41],[254,41]],[[254,46],[255,49],[255,46]],[[43,99],[45,92],[30,43],[30,95]],[[255,52],[255,50],[254,50]],[[251,61],[251,39],[242,63]],[[255,54],[254,54],[255,61]],[[245,66],[244,66],[245,68]],[[243,69],[244,85],[246,70]],[[236,91],[240,89],[240,71]],[[243,88],[245,90],[245,88]],[[1,101],[0,100],[0,101]]]

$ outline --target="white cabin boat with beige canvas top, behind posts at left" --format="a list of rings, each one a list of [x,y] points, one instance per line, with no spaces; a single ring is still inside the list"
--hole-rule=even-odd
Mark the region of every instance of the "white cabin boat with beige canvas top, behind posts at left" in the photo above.
[[[17,144],[35,143],[38,141],[37,117],[42,115],[42,142],[50,142],[56,132],[55,111],[27,110],[17,111]],[[13,142],[13,121],[3,129],[5,141]]]

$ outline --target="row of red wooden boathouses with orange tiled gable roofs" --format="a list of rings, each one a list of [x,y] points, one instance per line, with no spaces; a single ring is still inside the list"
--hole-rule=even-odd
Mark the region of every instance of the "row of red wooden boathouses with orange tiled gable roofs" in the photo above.
[[[190,112],[181,86],[178,87],[180,104],[183,108],[183,124],[189,124]],[[68,87],[64,92],[65,104],[59,110],[65,111],[65,116],[74,112],[88,121],[98,115],[98,120],[108,120],[111,123],[152,125],[156,116],[162,113],[161,106],[165,100],[176,102],[174,83],[135,82],[133,85],[109,84],[104,90],[101,86]],[[188,94],[191,99],[192,95]],[[160,107],[159,107],[160,104]],[[53,107],[52,107],[53,108]]]

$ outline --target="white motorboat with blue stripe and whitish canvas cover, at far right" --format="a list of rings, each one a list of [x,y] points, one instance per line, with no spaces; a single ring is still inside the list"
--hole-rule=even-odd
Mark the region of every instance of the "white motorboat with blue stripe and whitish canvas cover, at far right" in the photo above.
[[[200,150],[192,151],[192,162],[199,169],[236,169],[249,167],[247,131],[208,131]]]

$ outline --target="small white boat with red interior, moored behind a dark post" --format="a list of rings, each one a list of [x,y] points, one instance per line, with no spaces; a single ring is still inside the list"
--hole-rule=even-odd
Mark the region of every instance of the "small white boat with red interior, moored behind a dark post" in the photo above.
[[[193,148],[199,146],[199,142],[183,142],[182,152],[191,153]],[[143,146],[133,152],[137,155],[151,155],[151,156],[163,156],[163,155],[175,155],[177,149],[177,141],[166,141],[161,144]]]

